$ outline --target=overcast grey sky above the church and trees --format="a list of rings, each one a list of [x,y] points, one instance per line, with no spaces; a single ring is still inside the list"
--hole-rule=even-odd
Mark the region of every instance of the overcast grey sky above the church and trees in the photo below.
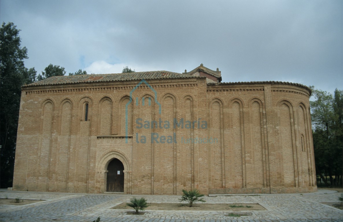
[[[343,89],[343,1],[0,0],[21,29],[27,68],[88,74],[203,63],[223,82],[285,81]]]

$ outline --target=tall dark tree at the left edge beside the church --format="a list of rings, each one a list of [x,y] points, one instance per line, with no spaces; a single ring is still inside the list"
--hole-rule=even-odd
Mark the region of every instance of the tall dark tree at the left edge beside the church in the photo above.
[[[35,79],[34,68],[26,69],[26,47],[21,47],[20,29],[9,22],[0,29],[0,186],[11,187],[18,128],[21,86]]]

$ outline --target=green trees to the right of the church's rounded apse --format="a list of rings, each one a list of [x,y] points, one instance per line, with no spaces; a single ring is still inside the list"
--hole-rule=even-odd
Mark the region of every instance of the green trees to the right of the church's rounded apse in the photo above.
[[[315,101],[310,106],[316,173],[326,186],[342,185],[343,91],[336,89],[332,95],[313,88]]]

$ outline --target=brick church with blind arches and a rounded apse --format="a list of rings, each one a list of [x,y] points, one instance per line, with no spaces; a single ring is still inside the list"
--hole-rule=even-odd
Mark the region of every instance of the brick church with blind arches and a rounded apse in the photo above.
[[[317,190],[309,96],[201,64],[22,87],[14,190],[180,195]]]

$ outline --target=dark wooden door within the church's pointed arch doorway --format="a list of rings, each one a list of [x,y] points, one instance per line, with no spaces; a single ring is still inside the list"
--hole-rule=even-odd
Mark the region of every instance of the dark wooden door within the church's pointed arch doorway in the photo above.
[[[114,158],[107,166],[107,192],[124,192],[124,165]]]

